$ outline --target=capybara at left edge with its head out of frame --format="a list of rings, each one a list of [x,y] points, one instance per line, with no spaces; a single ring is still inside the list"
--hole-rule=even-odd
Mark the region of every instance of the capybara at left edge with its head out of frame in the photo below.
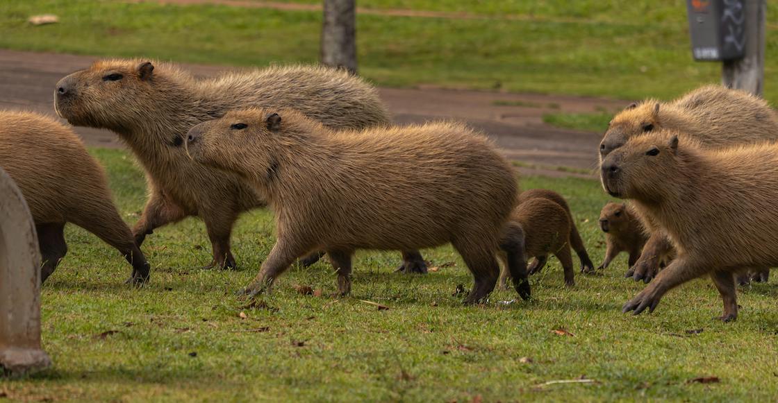
[[[19,186],[35,221],[41,281],[68,252],[67,223],[117,248],[132,265],[128,283],[149,279],[149,263],[114,207],[103,168],[70,128],[36,113],[0,111],[0,166]]]

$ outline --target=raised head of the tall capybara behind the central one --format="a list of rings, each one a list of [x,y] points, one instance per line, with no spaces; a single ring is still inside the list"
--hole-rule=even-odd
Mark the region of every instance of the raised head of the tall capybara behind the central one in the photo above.
[[[150,61],[96,61],[57,83],[54,109],[76,126],[121,131],[132,122],[142,122],[155,108],[156,84]]]

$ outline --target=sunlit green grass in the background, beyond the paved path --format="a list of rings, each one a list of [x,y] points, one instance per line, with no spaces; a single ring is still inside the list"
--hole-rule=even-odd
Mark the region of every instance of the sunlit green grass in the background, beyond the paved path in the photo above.
[[[380,85],[668,99],[720,80],[720,64],[692,61],[684,4],[360,2],[373,8],[464,11],[495,18],[360,15],[359,66]],[[770,3],[769,21],[776,10]],[[57,14],[61,23],[26,23],[42,12]],[[223,5],[5,0],[0,3],[0,47],[244,66],[314,62],[320,14]],[[532,18],[499,18],[504,15]],[[771,101],[778,100],[775,32],[771,26],[766,52],[766,98]]]

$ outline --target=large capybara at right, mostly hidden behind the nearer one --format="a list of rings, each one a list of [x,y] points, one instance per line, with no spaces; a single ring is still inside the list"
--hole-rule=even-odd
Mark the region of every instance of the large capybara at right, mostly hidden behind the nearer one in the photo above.
[[[630,137],[659,129],[680,130],[705,148],[723,148],[778,140],[778,116],[763,99],[721,85],[705,85],[672,102],[647,99],[614,116],[600,143],[600,161]],[[630,272],[634,280],[648,283],[657,275],[661,256],[672,251],[669,241],[656,239],[661,232],[643,224],[651,237]]]

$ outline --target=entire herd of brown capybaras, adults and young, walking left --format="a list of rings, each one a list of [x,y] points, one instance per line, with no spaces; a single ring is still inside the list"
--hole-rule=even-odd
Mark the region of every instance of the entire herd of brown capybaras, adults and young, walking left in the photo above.
[[[668,290],[708,274],[731,321],[737,283],[767,281],[778,266],[778,116],[739,90],[707,85],[614,116],[599,148],[601,186],[626,201],[601,211],[596,269],[562,195],[521,192],[510,163],[462,123],[394,125],[376,89],[347,71],[297,65],[195,78],[169,63],[106,60],[62,78],[54,97],[68,123],[112,130],[128,145],[149,200],[130,229],[69,127],[0,111],[0,168],[30,206],[42,281],[65,257],[68,223],[121,252],[128,283],[150,278],[145,237],[190,216],[205,222],[209,266],[234,268],[233,224],[260,207],[275,214],[276,241],[240,293],[250,297],[298,259],[327,255],[338,294],[348,295],[356,250],[398,251],[398,271],[426,273],[419,249],[450,244],[473,276],[465,304],[487,301],[509,279],[529,299],[528,276],[548,255],[574,287],[571,250],[582,273],[602,273],[626,252],[626,276],[650,284],[622,311],[654,311]]]

